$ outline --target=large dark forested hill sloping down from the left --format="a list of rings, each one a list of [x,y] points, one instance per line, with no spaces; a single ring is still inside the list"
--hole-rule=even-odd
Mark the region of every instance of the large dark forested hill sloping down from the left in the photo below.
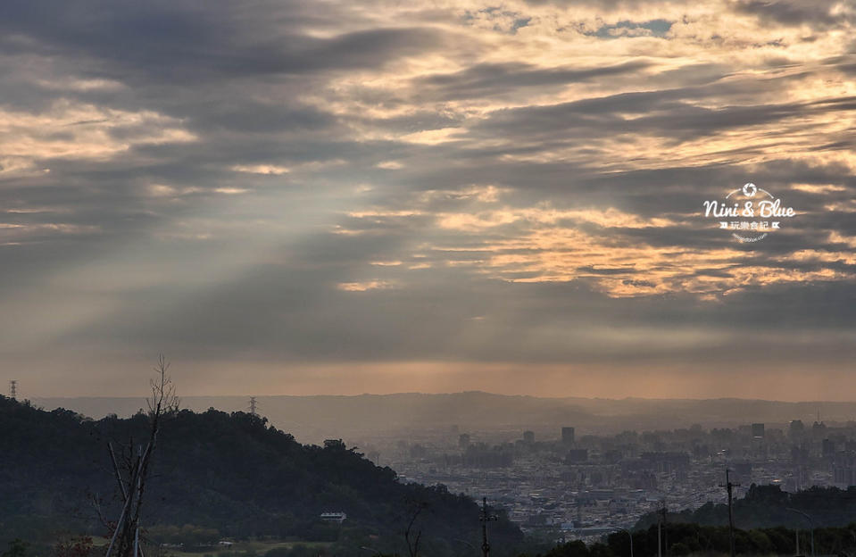
[[[92,496],[118,515],[108,441],[144,440],[144,414],[88,420],[0,396],[0,543],[86,528],[103,534]],[[217,536],[297,536],[407,554],[403,531],[416,516],[423,550],[452,554],[453,540],[478,545],[478,505],[444,487],[403,484],[339,441],[301,445],[244,412],[178,412],[163,423],[145,492],[145,527],[195,525]],[[341,526],[320,521],[344,511]],[[497,548],[522,540],[504,516],[491,525]],[[352,544],[352,545],[353,545]],[[368,544],[367,544],[368,545]],[[384,547],[381,547],[384,549]]]

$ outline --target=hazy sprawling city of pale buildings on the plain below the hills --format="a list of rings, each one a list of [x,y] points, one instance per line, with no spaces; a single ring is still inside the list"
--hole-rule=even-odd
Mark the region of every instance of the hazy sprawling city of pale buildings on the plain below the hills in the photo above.
[[[724,503],[726,469],[740,484],[735,497],[752,483],[786,491],[856,485],[856,422],[579,434],[573,427],[435,428],[376,437],[362,446],[403,481],[487,496],[521,528],[553,536],[586,538],[630,528],[663,505],[681,511]]]

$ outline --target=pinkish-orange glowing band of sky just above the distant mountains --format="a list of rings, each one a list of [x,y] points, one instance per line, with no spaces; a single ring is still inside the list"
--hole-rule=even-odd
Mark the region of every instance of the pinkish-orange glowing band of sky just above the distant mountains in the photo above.
[[[129,364],[132,365],[132,364]],[[75,381],[75,370],[54,373],[7,373],[18,380],[21,396],[139,396],[148,391],[148,370],[140,360],[136,369],[121,374],[111,370],[87,381]],[[500,395],[622,399],[717,399],[739,398],[782,402],[852,402],[856,385],[849,372],[826,371],[819,377],[802,366],[775,374],[746,374],[704,369],[613,370],[600,367],[569,370],[555,365],[490,365],[413,363],[384,365],[313,365],[306,367],[264,365],[247,373],[239,363],[219,365],[172,362],[170,374],[179,393],[196,396],[248,395],[390,395],[398,393],[460,393],[483,391]],[[128,367],[126,366],[127,370]],[[285,378],[279,378],[285,377]],[[520,378],[525,377],[525,382]],[[8,394],[8,393],[7,393]]]

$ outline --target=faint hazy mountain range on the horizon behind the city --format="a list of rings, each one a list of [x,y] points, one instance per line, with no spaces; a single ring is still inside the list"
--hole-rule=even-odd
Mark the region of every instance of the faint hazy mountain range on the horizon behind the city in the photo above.
[[[183,406],[197,412],[209,407],[245,411],[249,396],[185,396]],[[818,413],[827,424],[856,420],[856,403],[777,401],[735,398],[590,399],[493,395],[483,392],[427,395],[258,396],[259,413],[299,440],[318,443],[328,437],[352,438],[401,433],[407,429],[450,428],[461,432],[533,429],[539,438],[558,438],[562,426],[578,435],[625,429],[735,427],[751,422],[785,426],[790,420],[811,423]],[[129,416],[145,407],[143,398],[35,398],[48,410],[62,407],[92,418],[115,413]]]

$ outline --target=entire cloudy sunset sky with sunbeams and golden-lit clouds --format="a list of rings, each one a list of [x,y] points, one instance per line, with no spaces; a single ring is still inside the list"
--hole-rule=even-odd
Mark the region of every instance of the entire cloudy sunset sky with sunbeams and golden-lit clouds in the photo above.
[[[854,26],[4,0],[3,388],[856,400]],[[702,209],[748,182],[757,242]]]

